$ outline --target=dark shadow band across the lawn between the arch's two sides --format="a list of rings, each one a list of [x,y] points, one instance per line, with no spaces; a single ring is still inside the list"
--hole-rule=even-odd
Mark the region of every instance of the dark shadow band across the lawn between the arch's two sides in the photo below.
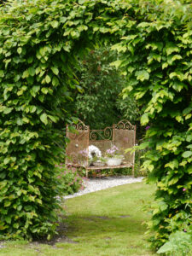
[[[121,215],[119,217],[108,218],[108,216],[70,216],[66,219],[68,230],[66,234],[70,237],[84,236],[103,236],[111,234],[112,236],[125,233],[125,236],[143,236],[146,227],[143,225],[143,219],[137,219],[137,216]],[[91,238],[91,237],[90,237]]]

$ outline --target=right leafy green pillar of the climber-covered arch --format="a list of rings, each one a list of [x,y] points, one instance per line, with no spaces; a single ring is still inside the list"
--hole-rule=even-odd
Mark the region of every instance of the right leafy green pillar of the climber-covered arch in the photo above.
[[[131,20],[131,33],[113,46],[125,52],[119,63],[126,67],[130,80],[125,95],[132,91],[137,97],[144,110],[141,122],[148,125],[140,148],[150,148],[143,168],[150,172],[148,182],[157,184],[153,218],[148,223],[155,232],[154,247],[177,230],[191,229],[191,19],[191,5],[152,6],[148,19],[137,26]]]

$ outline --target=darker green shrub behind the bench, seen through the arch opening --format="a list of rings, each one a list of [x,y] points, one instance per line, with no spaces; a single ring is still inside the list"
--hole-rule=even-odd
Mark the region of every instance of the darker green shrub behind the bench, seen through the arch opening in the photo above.
[[[126,79],[111,65],[116,59],[117,55],[108,46],[90,50],[80,62],[77,76],[83,91],[74,96],[73,115],[90,125],[90,129],[104,129],[120,119],[129,119],[135,124],[138,118],[133,97],[123,99],[120,96]]]

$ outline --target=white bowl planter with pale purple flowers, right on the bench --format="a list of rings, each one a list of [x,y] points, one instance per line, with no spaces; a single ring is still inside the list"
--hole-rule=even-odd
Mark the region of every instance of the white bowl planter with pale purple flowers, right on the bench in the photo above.
[[[124,159],[124,156],[119,154],[119,148],[113,145],[112,148],[108,148],[106,151],[106,159],[108,166],[119,166]]]

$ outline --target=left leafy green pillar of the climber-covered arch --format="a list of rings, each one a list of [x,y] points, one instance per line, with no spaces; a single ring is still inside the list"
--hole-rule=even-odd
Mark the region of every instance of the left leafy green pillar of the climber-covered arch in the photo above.
[[[73,62],[70,45],[55,30],[58,11],[49,1],[15,1],[0,10],[1,238],[55,232],[57,195],[65,192],[55,168],[64,147],[55,123],[64,126],[76,86],[65,69]]]

